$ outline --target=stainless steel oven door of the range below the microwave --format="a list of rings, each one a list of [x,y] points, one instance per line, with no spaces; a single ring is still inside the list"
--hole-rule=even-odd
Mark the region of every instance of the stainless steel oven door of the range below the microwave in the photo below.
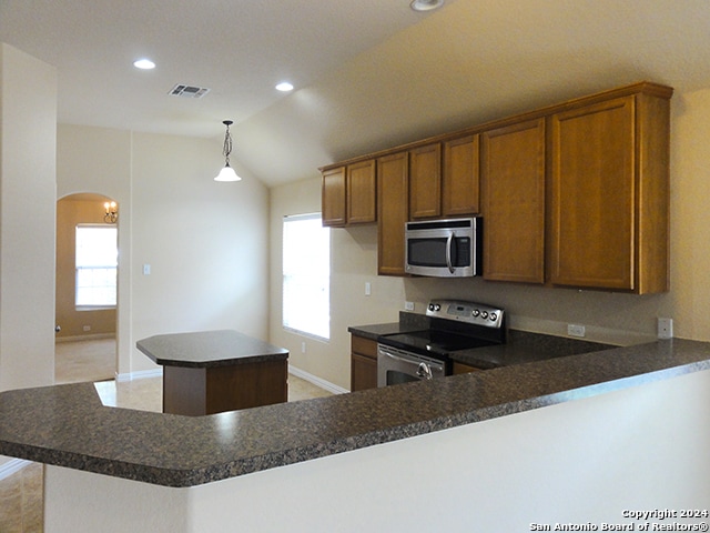
[[[433,380],[445,375],[444,361],[377,344],[377,386]]]

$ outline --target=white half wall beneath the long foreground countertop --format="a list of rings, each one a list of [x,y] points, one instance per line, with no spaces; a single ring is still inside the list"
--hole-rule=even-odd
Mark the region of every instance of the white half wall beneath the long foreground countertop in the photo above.
[[[640,531],[623,510],[707,510],[709,446],[704,371],[191,489],[48,466],[44,517],[48,533]],[[648,522],[673,521],[708,519]]]

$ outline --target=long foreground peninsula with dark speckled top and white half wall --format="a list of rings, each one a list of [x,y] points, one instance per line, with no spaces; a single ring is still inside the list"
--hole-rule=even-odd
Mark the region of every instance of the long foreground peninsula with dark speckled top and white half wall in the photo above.
[[[381,499],[339,531],[442,526],[397,503],[404,483],[470,516],[447,531],[529,531],[577,493],[587,520],[710,501],[709,376],[710,343],[670,340],[209,416],[106,408],[90,383],[7,391],[0,454],[50,465],[64,527],[90,522],[77,499],[103,531],[145,526],[126,510],[146,505],[151,531],[313,531]]]

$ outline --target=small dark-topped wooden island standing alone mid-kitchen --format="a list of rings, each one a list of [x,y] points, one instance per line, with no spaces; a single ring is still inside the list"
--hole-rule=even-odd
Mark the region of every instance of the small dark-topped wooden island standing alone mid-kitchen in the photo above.
[[[199,416],[288,400],[288,351],[237,331],[155,335],[138,349],[163,366],[163,412]]]

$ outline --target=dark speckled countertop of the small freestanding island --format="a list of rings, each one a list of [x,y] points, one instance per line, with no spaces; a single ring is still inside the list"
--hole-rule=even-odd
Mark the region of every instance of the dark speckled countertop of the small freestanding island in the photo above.
[[[168,366],[203,369],[288,359],[288,350],[233,330],[155,335],[135,345],[153,362]]]

